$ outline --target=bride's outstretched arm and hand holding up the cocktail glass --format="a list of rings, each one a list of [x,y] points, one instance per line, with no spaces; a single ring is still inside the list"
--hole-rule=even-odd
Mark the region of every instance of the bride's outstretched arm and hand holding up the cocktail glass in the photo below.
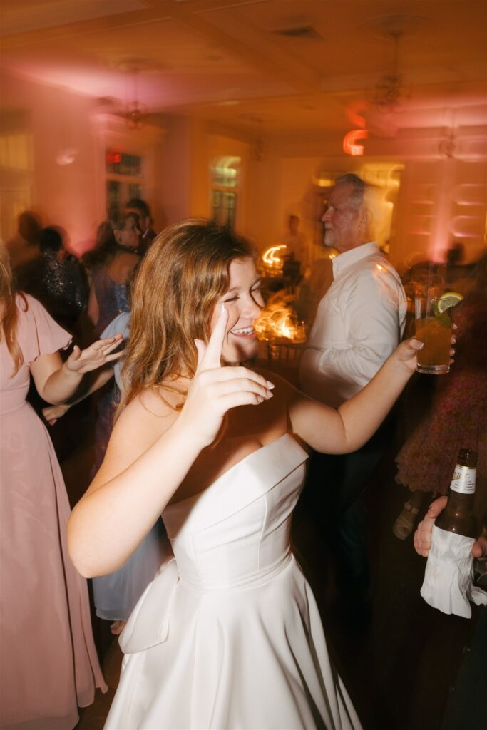
[[[322,453],[349,453],[366,443],[402,392],[416,368],[421,343],[402,342],[375,377],[337,410],[293,389],[288,412],[293,431]]]

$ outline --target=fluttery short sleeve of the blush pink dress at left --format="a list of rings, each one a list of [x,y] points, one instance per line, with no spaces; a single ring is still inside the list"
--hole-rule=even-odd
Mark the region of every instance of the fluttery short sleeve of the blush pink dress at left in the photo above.
[[[33,296],[24,294],[17,297],[19,309],[18,343],[26,365],[30,365],[39,355],[49,355],[64,350],[72,340],[69,332],[60,327]]]

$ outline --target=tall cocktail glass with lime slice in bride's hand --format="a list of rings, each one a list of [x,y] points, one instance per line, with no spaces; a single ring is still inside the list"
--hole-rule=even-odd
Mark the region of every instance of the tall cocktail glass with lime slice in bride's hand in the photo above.
[[[444,264],[430,264],[428,278],[418,284],[415,293],[416,339],[424,342],[418,350],[416,369],[429,375],[450,372],[452,309],[443,305],[445,295]]]

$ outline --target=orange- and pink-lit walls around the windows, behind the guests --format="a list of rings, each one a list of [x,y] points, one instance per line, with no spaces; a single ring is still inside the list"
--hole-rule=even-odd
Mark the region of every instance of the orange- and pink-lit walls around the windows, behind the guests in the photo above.
[[[17,196],[18,205],[28,203],[45,223],[66,228],[74,250],[83,250],[104,218],[104,148],[118,139],[127,152],[147,158],[145,184],[159,230],[189,215],[209,215],[212,158],[236,155],[242,158],[237,229],[260,250],[279,241],[288,215],[296,213],[318,255],[321,188],[316,178],[361,172],[374,162],[404,166],[391,241],[394,263],[402,265],[413,251],[439,258],[453,239],[464,242],[468,260],[485,246],[485,126],[459,128],[451,159],[439,152],[445,131],[433,128],[403,130],[391,138],[371,135],[361,158],[345,155],[341,137],[333,133],[267,135],[256,150],[250,134],[215,123],[168,117],[164,132],[129,131],[123,121],[113,126],[96,115],[88,97],[7,75],[1,84],[4,109],[26,112],[24,133],[31,139],[25,169],[1,171],[7,200],[0,220],[4,237],[15,223],[12,200]],[[72,164],[59,164],[68,149],[74,150]]]

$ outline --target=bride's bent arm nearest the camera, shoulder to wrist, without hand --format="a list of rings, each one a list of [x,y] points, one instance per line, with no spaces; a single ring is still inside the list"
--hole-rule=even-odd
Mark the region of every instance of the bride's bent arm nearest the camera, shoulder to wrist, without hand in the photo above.
[[[103,464],[69,518],[68,546],[85,577],[122,566],[150,530],[201,447],[152,393],[115,423]]]

